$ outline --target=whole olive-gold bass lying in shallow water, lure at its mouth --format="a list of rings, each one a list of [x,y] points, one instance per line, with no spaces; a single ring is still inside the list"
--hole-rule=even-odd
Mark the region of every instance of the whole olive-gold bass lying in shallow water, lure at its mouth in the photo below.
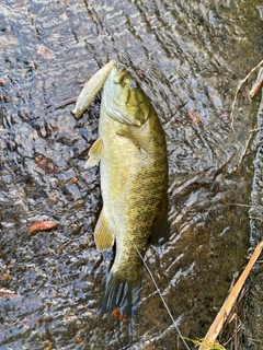
[[[133,317],[140,300],[141,257],[150,243],[168,235],[168,158],[165,135],[149,97],[133,74],[116,65],[104,80],[99,138],[85,167],[99,163],[103,207],[94,241],[100,252],[115,247],[101,310],[118,308]]]

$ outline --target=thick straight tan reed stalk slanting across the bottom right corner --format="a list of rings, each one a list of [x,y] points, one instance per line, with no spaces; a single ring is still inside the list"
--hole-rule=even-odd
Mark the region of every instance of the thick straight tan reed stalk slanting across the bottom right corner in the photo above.
[[[207,334],[204,338],[204,345],[201,345],[199,350],[208,350],[209,347],[207,346],[207,343],[213,343],[216,340],[218,334],[220,332],[220,330],[222,328],[222,325],[224,325],[226,318],[228,317],[230,311],[232,310],[233,304],[236,303],[236,301],[238,299],[238,295],[239,295],[239,293],[245,282],[247,277],[249,276],[252,267],[254,266],[255,261],[259,258],[259,256],[262,252],[262,248],[263,248],[263,240],[255,247],[254,253],[252,254],[252,256],[249,260],[249,264],[247,265],[245,269],[243,270],[243,272],[239,277],[237,283],[233,285],[231,292],[227,296],[222,307],[220,308],[214,323],[211,324],[209,330],[207,331]]]

